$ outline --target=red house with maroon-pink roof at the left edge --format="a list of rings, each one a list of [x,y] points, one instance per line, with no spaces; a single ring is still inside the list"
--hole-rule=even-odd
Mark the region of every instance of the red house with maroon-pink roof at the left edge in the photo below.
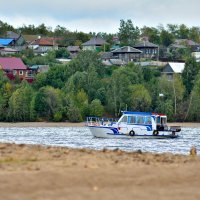
[[[20,80],[25,79],[28,82],[33,81],[33,77],[31,76],[31,71],[23,63],[21,58],[15,58],[15,57],[0,58],[0,70],[3,70],[10,80],[14,80],[16,76],[18,76]]]

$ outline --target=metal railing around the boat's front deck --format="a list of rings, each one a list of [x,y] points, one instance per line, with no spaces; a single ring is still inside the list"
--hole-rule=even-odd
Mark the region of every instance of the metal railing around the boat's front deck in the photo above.
[[[107,117],[87,117],[87,126],[112,126],[118,119]]]

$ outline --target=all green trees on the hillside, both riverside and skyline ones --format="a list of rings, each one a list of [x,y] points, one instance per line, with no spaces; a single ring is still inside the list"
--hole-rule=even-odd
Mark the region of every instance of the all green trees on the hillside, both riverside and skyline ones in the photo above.
[[[139,29],[131,24],[121,20],[118,36],[124,45],[130,42],[124,32],[127,28],[129,33],[134,32],[135,38],[145,35],[159,45],[169,45],[176,38],[200,42],[198,27],[167,25],[167,28]],[[1,22],[0,35],[8,30],[63,36],[68,45],[80,45],[93,35],[70,32],[60,26],[53,31],[44,24],[16,29]],[[115,34],[101,35],[112,44]],[[122,110],[165,113],[171,121],[200,120],[200,64],[190,54],[185,57],[182,75],[168,81],[161,76],[159,67],[141,67],[134,63],[122,67],[103,66],[100,55],[92,51],[81,51],[68,64],[61,64],[56,60],[56,53],[58,51],[35,56],[31,50],[24,50],[16,55],[29,66],[50,65],[50,70],[39,73],[33,84],[17,79],[10,81],[0,71],[0,121],[78,122],[89,115],[119,117]]]

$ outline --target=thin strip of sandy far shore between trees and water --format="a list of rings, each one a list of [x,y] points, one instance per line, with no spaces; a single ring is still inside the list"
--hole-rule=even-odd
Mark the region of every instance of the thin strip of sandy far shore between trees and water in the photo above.
[[[170,122],[169,126],[200,127],[200,122]],[[85,127],[85,122],[0,122],[0,127]]]

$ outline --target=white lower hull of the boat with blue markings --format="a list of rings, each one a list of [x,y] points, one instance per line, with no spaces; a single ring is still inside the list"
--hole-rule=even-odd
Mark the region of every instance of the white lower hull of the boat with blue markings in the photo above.
[[[121,138],[121,139],[166,139],[166,138],[177,138],[179,137],[177,134],[172,134],[169,131],[159,132],[158,135],[154,135],[153,132],[149,132],[148,134],[135,134],[134,136],[130,136],[128,134],[124,134],[118,130],[116,127],[109,126],[88,126],[92,135],[98,138]]]

